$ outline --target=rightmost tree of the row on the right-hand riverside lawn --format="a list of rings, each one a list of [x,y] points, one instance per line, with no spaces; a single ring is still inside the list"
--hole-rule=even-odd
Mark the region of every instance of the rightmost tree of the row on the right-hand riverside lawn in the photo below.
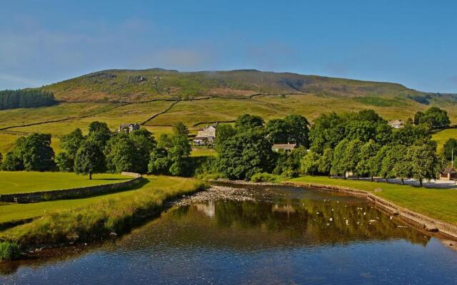
[[[435,178],[439,168],[436,142],[428,140],[421,145],[408,147],[407,158],[411,162],[412,176],[419,181],[421,187],[424,179]]]

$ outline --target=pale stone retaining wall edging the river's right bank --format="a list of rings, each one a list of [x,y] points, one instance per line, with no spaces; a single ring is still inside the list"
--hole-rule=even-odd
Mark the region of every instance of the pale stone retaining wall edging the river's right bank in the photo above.
[[[375,204],[376,206],[386,210],[388,213],[392,215],[398,215],[400,217],[407,219],[408,221],[414,222],[418,224],[419,227],[422,227],[428,232],[441,232],[443,234],[448,235],[449,237],[457,239],[457,226],[446,222],[441,222],[438,219],[433,219],[426,215],[411,211],[410,209],[400,207],[394,204],[393,202],[389,202],[386,199],[374,195],[371,192],[349,187],[340,187],[336,185],[321,185],[318,183],[307,182],[283,182],[281,184],[296,187],[308,187],[319,190],[328,190],[333,192],[342,192],[354,196],[362,196],[368,199],[369,202],[373,202],[373,204]]]

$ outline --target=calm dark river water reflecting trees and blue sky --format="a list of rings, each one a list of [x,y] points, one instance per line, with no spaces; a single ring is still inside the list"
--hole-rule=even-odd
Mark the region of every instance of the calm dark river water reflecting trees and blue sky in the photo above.
[[[253,188],[251,188],[253,189]],[[2,284],[457,284],[457,252],[363,199],[258,187],[121,239],[0,265]]]

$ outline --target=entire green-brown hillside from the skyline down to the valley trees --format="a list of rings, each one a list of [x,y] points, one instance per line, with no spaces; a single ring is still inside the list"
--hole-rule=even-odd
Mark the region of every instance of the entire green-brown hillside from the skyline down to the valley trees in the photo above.
[[[311,122],[321,113],[373,109],[387,120],[413,118],[438,105],[457,123],[457,96],[422,93],[397,83],[354,81],[261,71],[184,73],[162,69],[111,70],[44,86],[59,105],[0,110],[0,152],[20,135],[41,132],[59,137],[93,120],[114,130],[121,123],[141,123],[154,134],[171,132],[182,121],[196,133],[202,125],[231,122],[251,113],[266,120],[288,114]]]

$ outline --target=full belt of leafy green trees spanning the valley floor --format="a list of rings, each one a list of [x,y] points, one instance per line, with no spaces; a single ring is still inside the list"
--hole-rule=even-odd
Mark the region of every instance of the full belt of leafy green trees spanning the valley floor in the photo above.
[[[431,108],[432,109],[432,108]],[[430,109],[429,109],[430,110]],[[443,112],[436,113],[437,118]],[[446,111],[444,111],[446,117]],[[436,118],[436,120],[438,120]],[[214,174],[248,180],[268,172],[283,177],[335,175],[346,177],[413,177],[433,179],[451,159],[457,141],[448,140],[436,153],[431,120],[393,129],[373,110],[322,114],[313,125],[301,115],[270,120],[244,114],[217,128],[216,157],[191,157],[189,130],[174,125],[171,135],[156,140],[145,129],[113,133],[103,122],[92,122],[88,134],[76,129],[61,137],[62,152],[54,155],[51,135],[32,134],[16,140],[7,152],[4,170],[60,170],[89,175],[95,172],[139,172],[191,176]],[[274,143],[294,143],[290,153],[273,152]],[[0,162],[1,162],[0,155]]]

